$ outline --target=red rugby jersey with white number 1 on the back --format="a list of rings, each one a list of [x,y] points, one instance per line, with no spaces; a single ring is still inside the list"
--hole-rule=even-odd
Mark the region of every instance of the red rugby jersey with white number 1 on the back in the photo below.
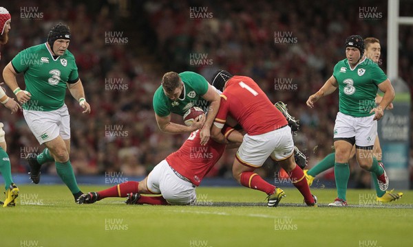
[[[235,75],[226,83],[215,123],[230,115],[250,135],[264,134],[288,124],[260,86],[247,76]]]

